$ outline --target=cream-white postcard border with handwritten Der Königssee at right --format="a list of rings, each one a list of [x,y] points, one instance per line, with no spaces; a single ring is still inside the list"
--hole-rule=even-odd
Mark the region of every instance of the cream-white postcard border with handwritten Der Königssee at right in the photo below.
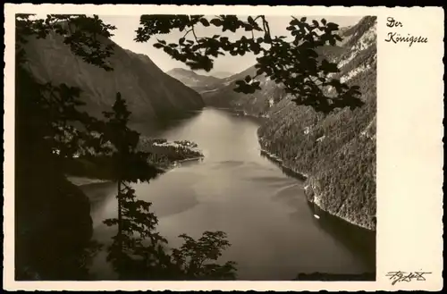
[[[376,281],[13,281],[14,14],[377,16]],[[386,42],[387,17],[426,44]],[[443,9],[250,5],[4,5],[5,290],[441,290],[443,288]],[[392,285],[386,273],[431,272]]]

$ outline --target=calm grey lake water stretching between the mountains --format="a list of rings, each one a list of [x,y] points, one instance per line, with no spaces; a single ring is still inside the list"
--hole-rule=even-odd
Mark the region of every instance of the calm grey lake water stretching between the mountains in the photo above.
[[[181,244],[181,233],[198,238],[203,231],[225,231],[232,246],[222,260],[237,262],[240,280],[374,272],[373,244],[357,240],[374,243],[375,239],[315,212],[302,181],[260,155],[258,126],[255,119],[213,108],[157,126],[156,133],[153,126],[135,126],[158,138],[192,140],[205,155],[201,162],[182,164],[150,184],[135,186],[139,198],[153,203],[158,231],[173,247]],[[93,199],[94,237],[106,243],[114,231],[102,221],[117,214],[115,186],[104,183],[84,189]],[[314,214],[321,214],[320,219]],[[91,272],[98,279],[115,278],[104,252]]]

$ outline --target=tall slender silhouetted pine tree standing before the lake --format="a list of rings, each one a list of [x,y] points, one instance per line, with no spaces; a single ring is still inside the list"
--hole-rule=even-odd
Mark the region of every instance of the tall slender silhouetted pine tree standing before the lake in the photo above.
[[[114,147],[111,154],[113,180],[117,182],[118,214],[107,219],[108,226],[117,226],[107,259],[112,262],[120,279],[135,279],[141,273],[141,265],[165,240],[155,232],[158,220],[149,212],[150,203],[138,200],[131,183],[149,181],[160,171],[148,164],[148,153],[137,150],[139,133],[128,127],[131,113],[127,110],[120,93],[112,112],[105,112],[106,121],[101,136]],[[150,240],[150,242],[147,242]],[[147,254],[145,256],[145,254]],[[142,258],[144,257],[144,258]]]

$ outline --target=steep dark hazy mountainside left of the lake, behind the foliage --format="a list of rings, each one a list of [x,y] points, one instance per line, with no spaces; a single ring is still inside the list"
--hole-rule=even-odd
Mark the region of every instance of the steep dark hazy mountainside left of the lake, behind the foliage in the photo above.
[[[100,41],[114,44],[108,38]],[[114,71],[83,62],[63,44],[63,37],[55,34],[45,39],[31,38],[25,49],[27,66],[38,80],[80,87],[86,109],[93,115],[108,110],[118,91],[127,100],[134,121],[164,118],[204,105],[196,91],[165,74],[147,55],[116,44],[114,55],[108,58]]]

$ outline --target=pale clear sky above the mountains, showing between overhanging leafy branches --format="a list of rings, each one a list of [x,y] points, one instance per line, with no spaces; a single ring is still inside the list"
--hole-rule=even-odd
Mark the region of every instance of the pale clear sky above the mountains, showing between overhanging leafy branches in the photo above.
[[[139,16],[113,16],[113,15],[99,15],[100,19],[105,21],[107,24],[114,25],[116,29],[112,32],[114,37],[112,39],[116,44],[122,46],[125,49],[131,50],[135,53],[148,55],[149,58],[156,63],[156,65],[162,71],[170,71],[173,68],[183,68],[189,69],[184,63],[174,60],[171,56],[164,53],[163,49],[156,49],[153,44],[156,42],[156,38],[152,38],[147,43],[137,43],[134,41],[136,37],[135,30],[139,27]],[[300,18],[301,16],[295,15],[295,17]],[[339,27],[346,27],[356,24],[362,16],[307,16],[308,21],[318,20],[325,18],[326,21],[332,21],[337,23]],[[245,19],[245,18],[244,18]],[[291,17],[285,16],[271,16],[266,17],[269,22],[270,31],[272,35],[283,35],[289,36],[290,32],[286,30],[286,27],[291,21]],[[225,32],[223,33],[220,28],[215,28],[214,26],[202,27],[198,26],[196,29],[196,34],[199,37],[220,35],[226,36],[230,39],[240,38],[242,35],[247,35],[246,32]],[[183,37],[184,31],[180,32],[178,29],[173,30],[173,32],[167,35],[156,36],[160,39],[164,39],[168,43],[178,43],[178,39]],[[214,63],[213,70],[209,72],[197,71],[200,74],[213,74],[217,71],[225,71],[230,73],[238,73],[248,69],[250,66],[256,63],[255,55],[249,54],[244,56],[232,56],[232,55],[220,55]]]

